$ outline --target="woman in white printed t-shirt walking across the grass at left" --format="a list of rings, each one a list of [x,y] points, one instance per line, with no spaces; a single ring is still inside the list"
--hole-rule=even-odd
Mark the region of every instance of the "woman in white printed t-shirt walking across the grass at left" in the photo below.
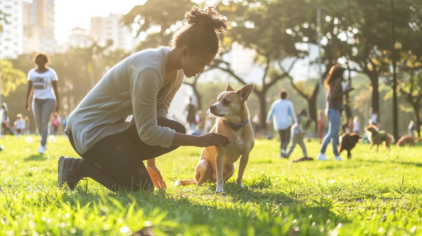
[[[28,72],[28,90],[25,109],[30,110],[32,92],[32,112],[38,132],[41,133],[41,145],[38,152],[43,154],[47,150],[48,123],[53,110],[59,110],[59,93],[57,91],[57,74],[47,67],[49,56],[46,54],[35,55],[36,68]],[[54,93],[53,93],[54,91]]]

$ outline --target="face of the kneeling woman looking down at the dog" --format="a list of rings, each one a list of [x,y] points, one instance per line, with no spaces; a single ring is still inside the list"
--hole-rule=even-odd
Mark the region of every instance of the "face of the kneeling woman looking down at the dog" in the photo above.
[[[211,64],[216,54],[192,53],[188,47],[182,48],[181,66],[186,77],[190,78],[204,72],[205,66]]]

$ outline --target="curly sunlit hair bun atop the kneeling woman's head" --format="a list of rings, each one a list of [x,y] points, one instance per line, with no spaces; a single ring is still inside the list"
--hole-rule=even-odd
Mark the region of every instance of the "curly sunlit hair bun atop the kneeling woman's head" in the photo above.
[[[185,21],[190,25],[200,25],[212,28],[216,32],[225,32],[228,30],[230,22],[226,21],[224,16],[220,15],[215,8],[216,4],[204,8],[195,5],[185,13]]]

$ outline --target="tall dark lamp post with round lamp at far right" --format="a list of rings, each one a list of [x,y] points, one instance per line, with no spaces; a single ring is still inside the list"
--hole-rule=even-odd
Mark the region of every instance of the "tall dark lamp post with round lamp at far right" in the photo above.
[[[398,140],[398,102],[397,102],[397,63],[396,50],[401,49],[401,43],[395,41],[394,36],[394,4],[391,0],[391,49],[392,49],[392,63],[393,63],[393,136]]]

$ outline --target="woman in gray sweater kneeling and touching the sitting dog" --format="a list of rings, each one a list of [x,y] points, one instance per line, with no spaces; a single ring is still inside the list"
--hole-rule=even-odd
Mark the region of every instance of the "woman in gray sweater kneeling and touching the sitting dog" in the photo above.
[[[90,177],[114,192],[166,188],[154,158],[179,146],[226,147],[226,137],[187,135],[167,114],[184,76],[202,73],[221,51],[218,33],[229,24],[215,6],[194,6],[170,47],[140,51],[111,68],[69,115],[65,133],[82,158],[59,158],[60,187],[73,190]]]

